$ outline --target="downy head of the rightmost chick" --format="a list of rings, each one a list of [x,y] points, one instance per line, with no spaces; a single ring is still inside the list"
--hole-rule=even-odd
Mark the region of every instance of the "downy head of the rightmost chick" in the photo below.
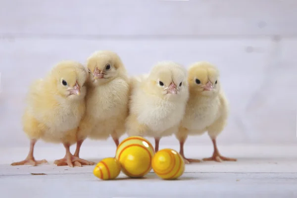
[[[196,62],[189,67],[188,82],[190,92],[202,96],[216,96],[220,91],[220,73],[216,66],[205,62]]]

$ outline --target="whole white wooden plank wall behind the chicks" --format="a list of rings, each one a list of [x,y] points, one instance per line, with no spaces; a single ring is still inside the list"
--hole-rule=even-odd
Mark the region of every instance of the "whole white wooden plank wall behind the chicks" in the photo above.
[[[213,62],[231,104],[220,144],[297,143],[297,0],[1,0],[0,146],[28,146],[20,119],[33,79],[99,49],[131,75],[165,59]]]

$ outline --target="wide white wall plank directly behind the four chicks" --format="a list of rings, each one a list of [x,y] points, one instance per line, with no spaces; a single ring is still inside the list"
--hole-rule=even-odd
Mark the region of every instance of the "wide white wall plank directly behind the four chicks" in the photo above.
[[[271,95],[274,88],[279,88],[278,84],[272,83],[275,74],[267,72],[267,67],[275,63],[282,68],[286,66],[286,61],[294,58],[292,55],[282,55],[282,61],[279,61],[278,54],[282,51],[276,49],[280,46],[270,39],[2,40],[0,109],[3,113],[0,114],[0,131],[5,133],[0,143],[10,147],[27,146],[20,119],[25,94],[32,80],[44,76],[53,64],[62,59],[85,62],[98,49],[118,52],[131,75],[148,72],[152,64],[166,59],[185,65],[198,60],[213,62],[221,70],[223,87],[231,105],[228,125],[218,139],[220,144],[297,143],[297,138],[292,138],[292,134],[296,134],[296,120],[290,117],[293,115],[296,92],[290,91],[292,87],[285,86],[285,83],[281,87],[283,95]],[[287,65],[287,68],[283,76],[293,75],[294,65]],[[270,80],[267,82],[266,79]],[[296,78],[290,77],[289,80],[291,85],[296,84]],[[259,89],[263,92],[258,93]],[[257,98],[252,101],[254,96]],[[283,106],[277,107],[276,104],[280,103]],[[277,116],[280,114],[288,117],[280,118]],[[177,144],[174,137],[164,138],[162,142]],[[98,142],[90,144],[96,145]],[[189,138],[187,144],[211,143],[207,135],[204,135]]]

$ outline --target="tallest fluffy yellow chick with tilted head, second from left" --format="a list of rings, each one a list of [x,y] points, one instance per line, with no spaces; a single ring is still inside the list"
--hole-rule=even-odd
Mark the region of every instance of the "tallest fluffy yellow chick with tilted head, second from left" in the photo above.
[[[96,51],[87,59],[89,79],[86,96],[86,116],[79,126],[79,142],[74,153],[88,137],[106,140],[112,137],[116,147],[125,133],[128,114],[128,75],[118,54],[108,50]]]

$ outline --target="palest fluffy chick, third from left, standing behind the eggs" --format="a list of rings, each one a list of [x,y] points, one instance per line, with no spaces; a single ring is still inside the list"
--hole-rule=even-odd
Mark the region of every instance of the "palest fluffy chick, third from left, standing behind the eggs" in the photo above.
[[[153,137],[158,151],[160,138],[177,132],[188,97],[187,70],[177,63],[158,62],[148,75],[132,78],[128,135]]]

